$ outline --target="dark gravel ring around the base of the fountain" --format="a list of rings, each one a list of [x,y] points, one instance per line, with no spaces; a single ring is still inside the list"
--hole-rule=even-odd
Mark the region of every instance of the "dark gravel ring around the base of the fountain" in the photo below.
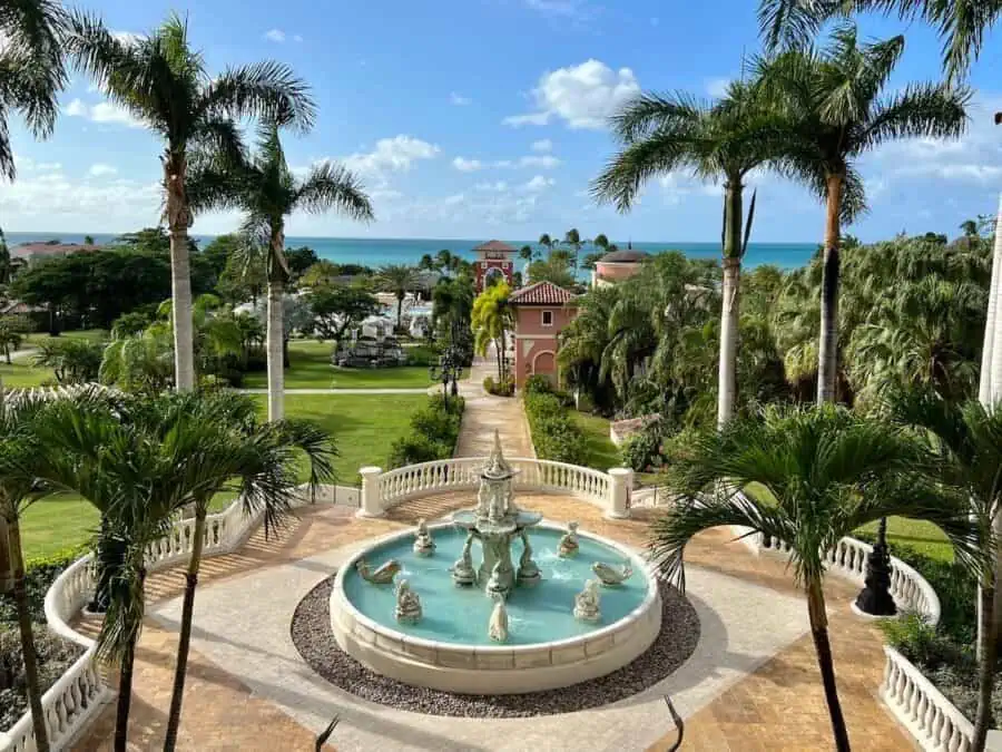
[[[692,655],[699,642],[696,609],[675,587],[659,583],[661,631],[639,657],[611,674],[559,691],[471,695],[411,686],[370,671],[334,639],[331,631],[332,575],[296,606],[289,628],[303,660],[331,684],[362,700],[428,715],[529,717],[573,713],[608,705],[654,686]]]

